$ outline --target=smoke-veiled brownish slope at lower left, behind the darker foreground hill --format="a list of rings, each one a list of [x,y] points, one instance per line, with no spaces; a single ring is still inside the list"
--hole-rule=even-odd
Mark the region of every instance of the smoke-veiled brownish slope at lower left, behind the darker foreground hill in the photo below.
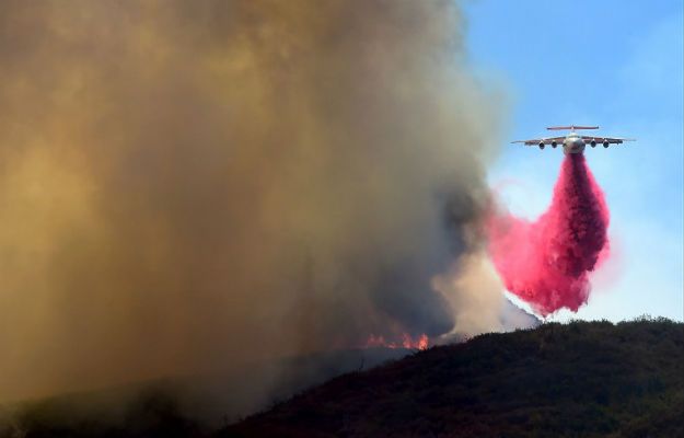
[[[321,351],[197,376],[0,403],[0,438],[207,436],[303,389],[411,351],[380,347]]]

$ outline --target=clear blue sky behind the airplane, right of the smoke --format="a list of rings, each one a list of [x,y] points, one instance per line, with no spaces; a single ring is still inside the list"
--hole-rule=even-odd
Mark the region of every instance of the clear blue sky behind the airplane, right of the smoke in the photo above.
[[[546,126],[595,124],[637,142],[588,148],[611,209],[613,255],[589,304],[571,318],[619,321],[683,313],[682,2],[658,0],[465,3],[471,61],[511,92],[510,139]],[[548,205],[563,152],[502,145],[489,181],[510,210]]]

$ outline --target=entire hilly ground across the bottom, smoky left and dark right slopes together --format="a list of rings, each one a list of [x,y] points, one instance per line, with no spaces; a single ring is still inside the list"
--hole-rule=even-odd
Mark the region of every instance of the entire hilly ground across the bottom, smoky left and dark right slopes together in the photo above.
[[[0,437],[684,436],[682,323],[544,324],[368,369],[405,353],[337,351],[23,403],[0,408]],[[274,367],[280,384],[265,393]]]

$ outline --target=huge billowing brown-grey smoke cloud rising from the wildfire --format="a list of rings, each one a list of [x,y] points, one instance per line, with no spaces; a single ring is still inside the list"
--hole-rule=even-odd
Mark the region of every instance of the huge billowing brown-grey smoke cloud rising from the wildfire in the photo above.
[[[0,399],[496,315],[455,280],[501,119],[463,33],[451,1],[2,1]]]

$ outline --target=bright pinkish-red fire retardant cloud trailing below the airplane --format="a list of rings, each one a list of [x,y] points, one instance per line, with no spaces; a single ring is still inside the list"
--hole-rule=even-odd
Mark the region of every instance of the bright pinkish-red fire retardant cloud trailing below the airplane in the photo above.
[[[577,311],[607,256],[608,209],[583,154],[568,154],[550,207],[536,221],[494,212],[489,252],[506,288],[546,316]]]

